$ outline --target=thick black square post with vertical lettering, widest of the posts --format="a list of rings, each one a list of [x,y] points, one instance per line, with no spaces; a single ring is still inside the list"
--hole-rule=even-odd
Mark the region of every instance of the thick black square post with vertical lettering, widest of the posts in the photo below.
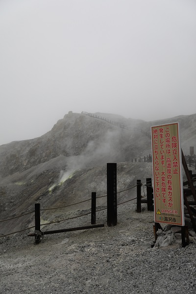
[[[107,225],[117,225],[117,164],[107,163]]]

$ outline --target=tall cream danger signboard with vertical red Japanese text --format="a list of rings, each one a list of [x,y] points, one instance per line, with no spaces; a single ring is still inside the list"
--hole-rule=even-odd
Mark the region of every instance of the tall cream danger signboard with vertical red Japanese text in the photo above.
[[[178,123],[151,127],[154,220],[184,225]]]

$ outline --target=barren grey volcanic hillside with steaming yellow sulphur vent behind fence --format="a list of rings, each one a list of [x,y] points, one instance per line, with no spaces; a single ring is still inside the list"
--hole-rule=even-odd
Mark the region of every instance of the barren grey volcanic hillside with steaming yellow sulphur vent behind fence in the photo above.
[[[0,146],[0,219],[18,216],[34,209],[68,205],[106,195],[106,163],[117,162],[118,191],[135,186],[136,180],[152,176],[150,162],[135,162],[151,153],[150,126],[180,123],[184,154],[196,148],[196,114],[145,122],[113,114],[77,114],[71,111],[43,136]],[[119,194],[124,201],[135,190]],[[100,198],[98,205],[105,205]],[[69,206],[60,212],[88,209],[90,202]],[[42,223],[58,218],[49,210]],[[25,229],[34,224],[33,214],[0,222],[0,234]]]

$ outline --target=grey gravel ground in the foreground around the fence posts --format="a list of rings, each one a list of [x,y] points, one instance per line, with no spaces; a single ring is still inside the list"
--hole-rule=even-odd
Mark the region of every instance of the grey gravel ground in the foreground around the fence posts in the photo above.
[[[196,293],[196,244],[151,248],[153,212],[143,204],[118,206],[118,225],[46,235],[0,238],[0,293]],[[71,216],[85,211],[70,212]],[[69,217],[66,215],[66,217]],[[65,216],[61,216],[62,218]],[[90,224],[90,215],[43,230]]]

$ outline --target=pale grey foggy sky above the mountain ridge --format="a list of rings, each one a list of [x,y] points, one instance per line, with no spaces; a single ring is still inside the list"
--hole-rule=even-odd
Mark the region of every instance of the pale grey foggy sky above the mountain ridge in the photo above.
[[[70,110],[196,113],[195,0],[0,0],[0,145]]]

